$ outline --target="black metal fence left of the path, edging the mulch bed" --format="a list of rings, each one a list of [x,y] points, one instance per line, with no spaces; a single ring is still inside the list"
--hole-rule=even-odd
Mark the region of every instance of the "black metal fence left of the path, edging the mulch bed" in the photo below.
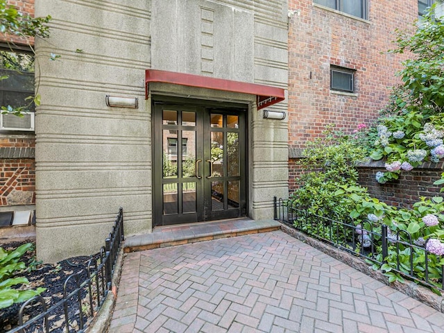
[[[86,279],[83,280],[80,273],[70,275],[65,280],[61,300],[51,307],[46,305],[42,296],[35,296],[24,302],[19,310],[19,325],[8,333],[84,332],[111,290],[112,274],[123,240],[123,209],[120,208],[112,231],[105,239],[105,246],[101,248],[98,256],[87,262]],[[26,310],[30,307],[40,307],[41,312],[25,320]],[[51,327],[51,317],[60,312],[62,323]]]

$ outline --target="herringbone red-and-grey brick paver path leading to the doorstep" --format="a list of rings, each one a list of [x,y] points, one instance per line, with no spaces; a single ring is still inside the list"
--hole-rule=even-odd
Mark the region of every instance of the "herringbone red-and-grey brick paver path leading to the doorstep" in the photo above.
[[[110,332],[444,332],[444,314],[281,231],[130,253]]]

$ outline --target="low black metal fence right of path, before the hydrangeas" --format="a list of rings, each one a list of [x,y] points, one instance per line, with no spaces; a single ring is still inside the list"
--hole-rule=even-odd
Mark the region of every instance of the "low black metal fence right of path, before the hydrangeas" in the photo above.
[[[355,225],[352,218],[335,219],[332,212],[299,207],[291,200],[274,197],[274,218],[311,237],[363,257],[384,273],[392,272],[432,289],[444,291],[444,258],[426,250],[427,241],[414,244],[404,230],[392,232],[387,225],[370,221]],[[328,216],[328,217],[327,217]]]

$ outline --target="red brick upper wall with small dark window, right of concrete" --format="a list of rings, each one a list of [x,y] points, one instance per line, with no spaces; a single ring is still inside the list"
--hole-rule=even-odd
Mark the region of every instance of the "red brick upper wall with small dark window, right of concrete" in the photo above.
[[[399,78],[401,56],[393,48],[395,28],[409,28],[418,1],[368,1],[368,19],[356,19],[313,4],[289,0],[300,10],[289,20],[289,145],[303,147],[335,123],[347,132],[370,123],[384,108]],[[330,65],[355,69],[355,95],[330,92]]]

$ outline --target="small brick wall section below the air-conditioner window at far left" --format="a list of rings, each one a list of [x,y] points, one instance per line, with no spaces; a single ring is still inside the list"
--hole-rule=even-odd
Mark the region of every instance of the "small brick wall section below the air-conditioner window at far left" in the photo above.
[[[0,206],[35,203],[35,139],[0,137]]]

